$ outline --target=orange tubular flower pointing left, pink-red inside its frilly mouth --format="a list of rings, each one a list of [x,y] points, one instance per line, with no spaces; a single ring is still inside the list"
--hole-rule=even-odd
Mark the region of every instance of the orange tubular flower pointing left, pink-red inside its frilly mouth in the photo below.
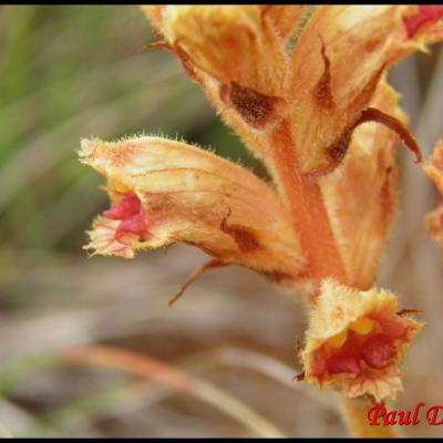
[[[81,161],[107,178],[112,206],[86,246],[132,258],[176,241],[198,246],[223,264],[295,280],[303,258],[287,209],[254,174],[185,143],[136,137],[83,141]]]

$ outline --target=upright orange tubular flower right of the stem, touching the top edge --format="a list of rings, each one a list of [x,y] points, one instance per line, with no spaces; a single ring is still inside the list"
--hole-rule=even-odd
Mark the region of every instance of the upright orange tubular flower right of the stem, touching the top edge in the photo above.
[[[416,7],[404,6],[317,8],[295,47],[289,81],[292,137],[303,173],[326,174],[340,164],[383,71],[435,40],[431,28],[408,37],[403,19],[414,13]]]

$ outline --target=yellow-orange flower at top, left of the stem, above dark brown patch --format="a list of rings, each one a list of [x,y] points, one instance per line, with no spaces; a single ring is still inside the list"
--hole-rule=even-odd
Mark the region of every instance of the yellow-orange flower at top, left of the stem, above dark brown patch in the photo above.
[[[222,84],[235,83],[266,95],[279,95],[285,53],[275,25],[280,20],[260,6],[142,7],[166,41]],[[287,31],[286,31],[287,32]]]

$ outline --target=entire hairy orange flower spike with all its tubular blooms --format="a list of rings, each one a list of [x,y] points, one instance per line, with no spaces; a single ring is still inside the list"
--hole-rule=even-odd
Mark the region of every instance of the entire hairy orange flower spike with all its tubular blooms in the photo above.
[[[272,183],[156,136],[83,141],[111,208],[86,246],[132,258],[177,241],[311,300],[305,379],[393,399],[421,328],[373,287],[395,209],[396,142],[422,155],[387,71],[442,40],[436,6],[146,6],[164,40]],[[443,192],[443,148],[425,167]],[[443,207],[429,217],[443,243]]]

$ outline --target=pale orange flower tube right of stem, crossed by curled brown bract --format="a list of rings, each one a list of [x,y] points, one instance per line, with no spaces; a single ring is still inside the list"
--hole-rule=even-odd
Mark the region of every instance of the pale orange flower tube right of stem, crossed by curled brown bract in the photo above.
[[[405,122],[396,102],[398,94],[382,82],[371,106]],[[360,289],[373,285],[395,210],[395,143],[389,128],[364,124],[340,166],[319,181],[349,285]]]

